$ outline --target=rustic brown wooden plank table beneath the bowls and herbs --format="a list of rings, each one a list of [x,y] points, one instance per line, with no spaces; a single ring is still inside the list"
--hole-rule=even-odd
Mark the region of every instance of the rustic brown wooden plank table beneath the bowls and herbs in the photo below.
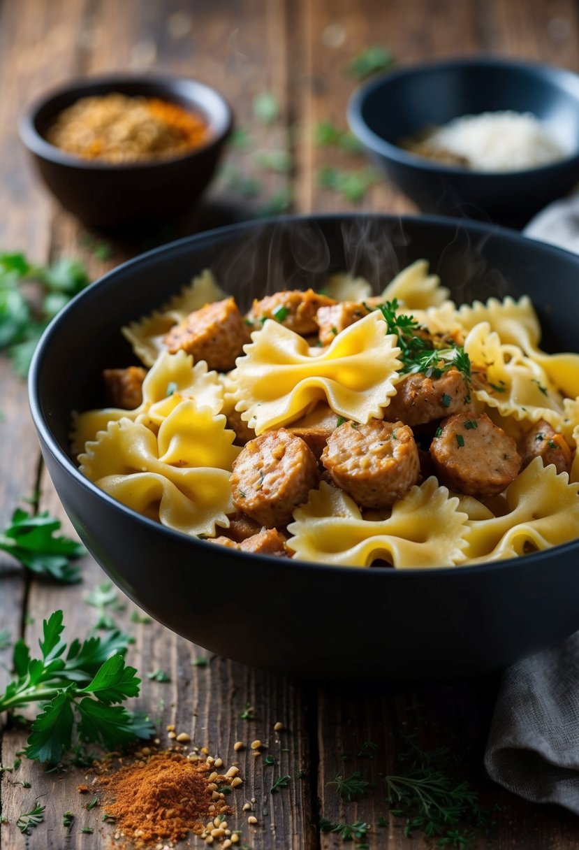
[[[93,247],[95,238],[101,237],[87,235],[76,220],[53,205],[25,161],[16,130],[23,106],[49,86],[77,75],[127,68],[155,67],[216,84],[233,104],[238,127],[252,139],[250,150],[244,150],[239,139],[237,146],[230,147],[222,176],[194,221],[180,229],[167,228],[160,241],[266,209],[413,211],[412,204],[384,182],[370,188],[358,204],[318,188],[323,165],[347,169],[365,165],[359,156],[316,146],[313,137],[319,122],[346,127],[346,100],[355,83],[345,67],[370,44],[390,47],[400,64],[490,52],[579,70],[579,8],[572,0],[3,0],[0,249],[24,250],[40,263],[62,254],[82,258],[91,274],[98,276],[147,246],[117,242],[108,260],[98,260]],[[279,107],[278,118],[270,124],[260,122],[254,112],[253,99],[263,92],[273,93]],[[262,157],[256,161],[258,150],[290,151],[290,170],[284,171],[279,159],[278,172],[267,170]],[[253,198],[248,197],[252,194]],[[14,377],[4,357],[0,358],[0,379],[0,521],[7,523],[20,500],[40,488],[41,509],[61,517],[71,534],[39,460],[25,383]],[[96,612],[84,599],[105,576],[91,558],[83,559],[82,584],[71,587],[31,581],[2,554],[0,570],[0,626],[8,628],[14,639],[24,634],[29,643],[36,643],[42,619],[58,608],[65,611],[70,636],[86,634],[93,624]],[[570,814],[523,802],[485,777],[482,753],[496,679],[406,689],[375,683],[374,689],[363,691],[347,685],[327,688],[290,681],[216,657],[206,666],[196,666],[194,660],[207,657],[204,649],[155,623],[134,622],[135,605],[121,599],[121,594],[118,601],[125,607],[115,612],[115,620],[134,635],[129,660],[143,676],[138,703],[160,718],[163,742],[166,724],[176,723],[197,745],[206,745],[224,759],[233,757],[235,741],[254,739],[267,742],[267,752],[278,757],[278,766],[271,768],[248,750],[239,753],[245,785],[234,798],[239,808],[254,797],[259,821],[250,827],[246,813],[237,813],[243,846],[256,850],[341,847],[338,836],[320,833],[323,817],[372,824],[368,832],[372,848],[431,847],[418,834],[413,839],[404,837],[402,822],[387,816],[380,777],[392,766],[396,728],[416,731],[427,745],[447,745],[462,759],[460,771],[481,792],[483,802],[500,806],[497,825],[481,834],[476,847],[564,850],[579,846],[579,821]],[[272,605],[275,628],[274,600]],[[0,661],[8,667],[10,653],[10,649],[0,651]],[[169,683],[146,678],[146,673],[158,668],[171,677]],[[0,686],[6,678],[0,669]],[[254,708],[255,715],[249,712],[251,717],[240,717],[246,706]],[[9,766],[26,734],[18,727],[3,728],[3,719],[2,763]],[[277,722],[284,723],[279,734],[273,731]],[[376,745],[374,757],[357,758],[368,741]],[[344,762],[345,753],[354,757]],[[359,802],[344,805],[328,783],[336,774],[355,769],[376,785]],[[304,775],[297,779],[300,771]],[[286,789],[272,795],[278,772],[292,779]],[[16,774],[4,773],[0,787],[9,825],[0,830],[3,850],[108,847],[114,830],[101,824],[98,809],[82,808],[84,801],[76,793],[81,780],[81,771],[45,774],[39,765],[26,761]],[[25,788],[22,782],[31,787]],[[45,820],[30,837],[22,836],[15,821],[37,799],[46,805]],[[76,815],[69,829],[62,825],[66,810]],[[386,826],[378,825],[381,817],[386,818]],[[93,834],[82,833],[84,826],[93,827]],[[196,844],[200,846],[192,839],[184,846]]]

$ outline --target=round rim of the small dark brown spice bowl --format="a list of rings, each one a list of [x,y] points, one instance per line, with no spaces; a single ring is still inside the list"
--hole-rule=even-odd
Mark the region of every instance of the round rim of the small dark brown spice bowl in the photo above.
[[[208,95],[214,100],[214,105],[217,105],[216,111],[205,111],[200,108],[200,111],[205,116],[208,126],[211,128],[211,135],[203,143],[198,145],[186,153],[163,156],[159,159],[152,160],[136,160],[131,162],[107,162],[97,159],[84,159],[82,156],[75,156],[65,150],[61,150],[55,144],[51,144],[38,132],[36,122],[38,113],[49,106],[54,100],[59,99],[66,94],[76,95],[76,99],[88,96],[90,89],[103,88],[104,92],[109,90],[113,92],[115,86],[124,86],[126,84],[143,85],[143,88],[155,86],[166,89],[167,94],[171,94],[177,87],[188,87],[191,89],[191,94],[187,94],[183,99],[194,106],[195,95],[201,93]],[[95,93],[96,94],[96,93]],[[75,101],[73,101],[74,103]],[[158,74],[155,72],[135,74],[125,71],[110,72],[106,74],[96,74],[87,77],[76,77],[74,80],[64,83],[63,85],[53,87],[44,94],[40,94],[36,99],[25,108],[25,111],[20,116],[18,122],[18,131],[20,140],[31,153],[40,157],[43,160],[53,162],[60,166],[75,168],[88,171],[105,171],[108,173],[120,173],[122,171],[145,170],[149,168],[160,168],[174,162],[183,162],[194,160],[205,150],[210,150],[227,139],[229,133],[233,129],[233,110],[228,103],[228,100],[216,88],[206,82],[195,80],[193,77],[180,77],[171,74]]]

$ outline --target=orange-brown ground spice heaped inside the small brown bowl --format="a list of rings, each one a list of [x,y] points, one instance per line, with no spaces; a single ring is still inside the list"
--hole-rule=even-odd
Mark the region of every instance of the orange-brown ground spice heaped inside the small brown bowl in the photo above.
[[[204,119],[178,104],[111,92],[67,106],[48,128],[47,139],[89,160],[138,162],[187,153],[207,134]]]

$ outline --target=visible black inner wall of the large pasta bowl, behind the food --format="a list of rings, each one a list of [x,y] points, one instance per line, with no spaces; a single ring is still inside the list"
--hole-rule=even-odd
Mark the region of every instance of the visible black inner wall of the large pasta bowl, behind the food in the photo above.
[[[529,294],[548,350],[577,350],[579,257],[509,230],[445,218],[329,216],[240,224],[164,246],[125,263],[70,303],[42,338],[31,371],[37,427],[69,456],[71,411],[104,405],[104,368],[137,363],[121,326],[166,302],[211,269],[248,309],[281,288],[319,289],[351,271],[374,291],[419,258],[430,261],[457,303]],[[87,344],[98,340],[98,344]],[[69,461],[71,471],[76,467]]]

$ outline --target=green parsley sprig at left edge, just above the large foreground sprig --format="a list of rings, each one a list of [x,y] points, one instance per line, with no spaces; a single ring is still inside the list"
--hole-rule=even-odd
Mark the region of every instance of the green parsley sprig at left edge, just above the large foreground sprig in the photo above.
[[[70,559],[80,558],[85,548],[69,537],[56,536],[59,528],[59,519],[48,511],[31,516],[17,507],[8,527],[0,532],[0,549],[35,575],[64,584],[75,583],[80,581],[80,575]]]

